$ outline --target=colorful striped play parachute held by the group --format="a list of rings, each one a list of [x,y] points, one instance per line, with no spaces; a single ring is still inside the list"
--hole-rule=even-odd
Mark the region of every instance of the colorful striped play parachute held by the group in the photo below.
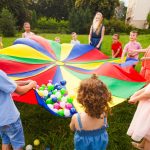
[[[126,65],[119,66],[119,61],[118,58],[110,59],[90,45],[59,44],[40,36],[17,39],[14,45],[0,51],[0,69],[12,79],[32,79],[39,85],[48,80],[53,84],[66,80],[66,88],[71,94],[76,94],[82,79],[96,73],[112,92],[110,106],[123,102],[145,85],[145,79],[138,72],[133,68],[126,71]],[[13,97],[19,102],[43,106],[34,90]],[[83,111],[76,100],[73,103],[77,111]]]

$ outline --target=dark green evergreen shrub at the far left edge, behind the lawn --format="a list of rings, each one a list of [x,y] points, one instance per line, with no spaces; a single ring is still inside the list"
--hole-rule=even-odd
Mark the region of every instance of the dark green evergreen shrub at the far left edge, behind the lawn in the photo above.
[[[15,35],[15,19],[8,9],[2,10],[0,15],[0,29],[3,36],[9,37]]]

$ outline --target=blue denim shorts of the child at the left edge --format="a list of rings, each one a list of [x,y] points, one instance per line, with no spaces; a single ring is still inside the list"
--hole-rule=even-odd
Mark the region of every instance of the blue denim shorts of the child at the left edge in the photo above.
[[[19,118],[15,123],[0,127],[2,144],[11,144],[14,150],[25,146],[23,127]]]

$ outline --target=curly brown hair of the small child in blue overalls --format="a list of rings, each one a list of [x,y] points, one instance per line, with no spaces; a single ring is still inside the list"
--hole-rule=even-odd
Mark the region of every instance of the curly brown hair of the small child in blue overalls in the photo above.
[[[81,81],[77,101],[85,107],[85,112],[89,116],[100,118],[101,114],[109,111],[108,102],[111,101],[111,93],[96,74],[93,74],[91,78]]]

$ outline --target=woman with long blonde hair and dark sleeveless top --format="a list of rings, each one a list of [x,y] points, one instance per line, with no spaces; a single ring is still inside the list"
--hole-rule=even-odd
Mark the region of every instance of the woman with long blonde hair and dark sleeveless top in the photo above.
[[[105,27],[102,24],[103,15],[97,12],[94,16],[93,23],[89,33],[89,44],[101,50],[102,41],[105,34]]]

